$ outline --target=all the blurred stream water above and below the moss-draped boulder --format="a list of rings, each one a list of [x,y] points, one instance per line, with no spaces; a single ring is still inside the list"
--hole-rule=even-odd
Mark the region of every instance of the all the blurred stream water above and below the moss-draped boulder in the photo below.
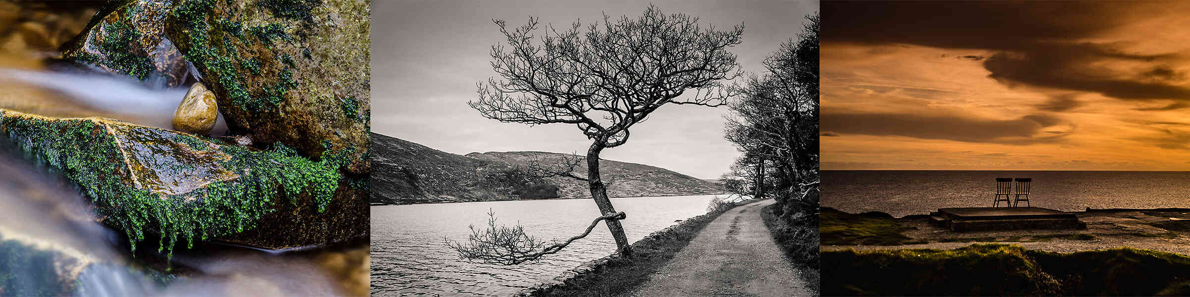
[[[0,0],[0,108],[171,128],[187,88],[164,88],[46,57],[95,13],[87,4]],[[213,135],[226,129],[218,120]],[[164,255],[100,223],[74,184],[0,139],[0,296],[367,296],[367,242],[259,251],[199,244]],[[156,240],[151,240],[156,241]],[[148,249],[148,251],[146,251]]]

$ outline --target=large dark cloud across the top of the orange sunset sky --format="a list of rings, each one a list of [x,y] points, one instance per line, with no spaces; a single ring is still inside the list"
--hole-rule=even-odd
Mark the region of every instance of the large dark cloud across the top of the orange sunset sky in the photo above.
[[[1086,42],[1152,18],[1132,2],[822,2],[823,43],[915,44],[990,50],[989,76],[1008,86],[1103,94],[1122,100],[1190,100],[1169,67],[1179,53],[1135,53],[1132,43]],[[833,23],[838,21],[838,23]]]

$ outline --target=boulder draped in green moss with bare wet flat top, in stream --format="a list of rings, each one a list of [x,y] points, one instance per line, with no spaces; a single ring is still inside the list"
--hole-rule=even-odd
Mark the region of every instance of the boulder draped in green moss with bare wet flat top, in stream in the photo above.
[[[338,159],[104,118],[0,110],[0,133],[76,183],[133,248],[146,234],[170,254],[194,240],[286,248],[368,235],[367,176],[343,175]]]

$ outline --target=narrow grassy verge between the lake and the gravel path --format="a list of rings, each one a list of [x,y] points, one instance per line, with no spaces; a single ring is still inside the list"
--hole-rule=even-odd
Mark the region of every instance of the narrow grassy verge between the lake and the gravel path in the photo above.
[[[538,287],[528,296],[621,296],[644,284],[662,268],[678,251],[690,244],[703,227],[727,210],[756,200],[728,203],[731,207],[715,207],[704,215],[690,217],[678,225],[632,244],[633,259],[610,257],[603,265],[590,272],[578,274],[551,287]]]

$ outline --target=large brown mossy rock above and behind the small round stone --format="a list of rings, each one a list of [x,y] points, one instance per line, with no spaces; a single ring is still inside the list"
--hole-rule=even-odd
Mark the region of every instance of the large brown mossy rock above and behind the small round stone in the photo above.
[[[367,173],[369,5],[177,0],[165,33],[215,93],[232,133]]]

